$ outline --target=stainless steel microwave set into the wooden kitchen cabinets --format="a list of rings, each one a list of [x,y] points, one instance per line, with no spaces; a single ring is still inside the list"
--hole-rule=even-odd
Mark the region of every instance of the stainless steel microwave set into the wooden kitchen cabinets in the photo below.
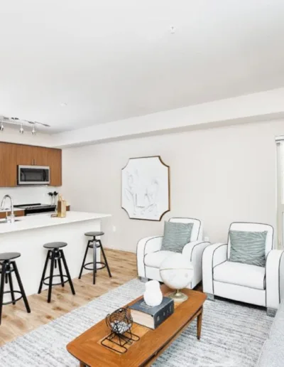
[[[18,166],[18,185],[50,184],[50,167]]]

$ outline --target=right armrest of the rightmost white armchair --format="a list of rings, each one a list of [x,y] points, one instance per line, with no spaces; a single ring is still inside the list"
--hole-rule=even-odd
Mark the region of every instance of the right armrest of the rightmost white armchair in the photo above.
[[[271,250],[266,257],[266,307],[271,309],[278,309],[280,304],[284,281],[283,253],[283,250]]]

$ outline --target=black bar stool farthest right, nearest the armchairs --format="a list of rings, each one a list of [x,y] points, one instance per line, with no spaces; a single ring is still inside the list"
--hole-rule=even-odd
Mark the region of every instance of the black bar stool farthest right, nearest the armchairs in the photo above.
[[[96,238],[99,235],[104,235],[104,232],[87,232],[84,235],[92,237],[92,240],[89,240],[88,243],[87,243],[87,248],[86,248],[86,251],[84,252],[84,260],[82,262],[82,267],[81,267],[81,270],[80,270],[79,279],[81,279],[81,277],[82,277],[83,269],[92,270],[93,271],[93,284],[96,284],[96,272],[97,272],[97,270],[101,270],[101,269],[104,269],[105,267],[107,267],[107,271],[109,272],[109,277],[111,277],[111,271],[109,270],[109,264],[107,263],[107,257],[104,254],[104,248],[102,247],[102,242],[101,242],[101,240],[97,240],[97,238]],[[87,262],[87,264],[85,264],[86,257],[87,257],[87,252],[88,252],[89,248],[93,249],[93,261],[92,262]],[[97,251],[96,251],[97,248],[100,248],[102,250],[102,255],[104,257],[104,262],[97,261]],[[97,268],[97,264],[102,265],[102,266]],[[92,265],[92,267],[87,267],[87,265]]]

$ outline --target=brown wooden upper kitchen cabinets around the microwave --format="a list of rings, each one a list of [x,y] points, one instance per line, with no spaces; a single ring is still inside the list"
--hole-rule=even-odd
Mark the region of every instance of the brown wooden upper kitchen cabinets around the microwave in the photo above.
[[[61,186],[61,156],[61,149],[0,142],[0,187],[17,186],[17,166],[50,166],[50,186]]]

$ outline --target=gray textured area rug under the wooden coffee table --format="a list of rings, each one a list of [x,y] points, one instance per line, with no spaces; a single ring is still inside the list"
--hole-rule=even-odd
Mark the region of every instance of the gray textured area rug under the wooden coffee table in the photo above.
[[[66,345],[109,312],[143,294],[144,287],[139,280],[131,280],[6,344],[0,349],[0,366],[78,367]],[[206,301],[201,340],[197,341],[194,321],[153,366],[254,367],[272,321],[263,309]]]

